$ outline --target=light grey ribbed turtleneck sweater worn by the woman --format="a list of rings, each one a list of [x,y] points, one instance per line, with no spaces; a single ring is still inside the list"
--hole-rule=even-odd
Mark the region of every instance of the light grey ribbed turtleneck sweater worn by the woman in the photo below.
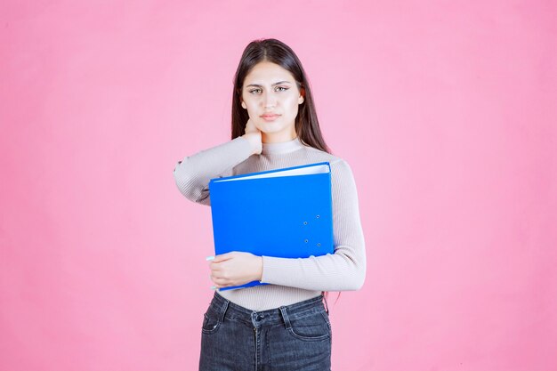
[[[211,178],[328,161],[335,254],[303,259],[263,256],[261,281],[271,285],[219,294],[249,310],[265,311],[311,299],[321,291],[358,290],[366,278],[366,250],[351,167],[342,158],[305,146],[299,138],[262,146],[261,155],[252,155],[249,141],[238,137],[184,157],[174,167],[176,185],[186,198],[210,206]]]

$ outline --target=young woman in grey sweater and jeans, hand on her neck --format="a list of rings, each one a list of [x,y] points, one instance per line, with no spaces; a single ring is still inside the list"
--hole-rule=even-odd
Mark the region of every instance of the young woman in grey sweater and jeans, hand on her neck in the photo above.
[[[331,165],[335,254],[215,256],[210,269],[217,291],[204,314],[200,370],[329,370],[332,334],[323,294],[358,290],[366,276],[351,167],[327,149],[302,63],[276,39],[251,42],[236,71],[231,141],[179,161],[178,189],[210,206],[211,178],[324,161]],[[253,280],[270,285],[218,291]]]

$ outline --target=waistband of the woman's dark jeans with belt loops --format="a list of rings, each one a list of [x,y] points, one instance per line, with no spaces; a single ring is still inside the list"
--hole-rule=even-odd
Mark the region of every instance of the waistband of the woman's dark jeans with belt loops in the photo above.
[[[222,318],[242,321],[254,327],[276,324],[289,325],[289,319],[301,319],[321,311],[326,312],[323,299],[323,294],[320,294],[303,302],[295,302],[294,304],[284,305],[276,309],[251,311],[234,302],[230,302],[230,300],[215,292],[210,307],[219,313]]]

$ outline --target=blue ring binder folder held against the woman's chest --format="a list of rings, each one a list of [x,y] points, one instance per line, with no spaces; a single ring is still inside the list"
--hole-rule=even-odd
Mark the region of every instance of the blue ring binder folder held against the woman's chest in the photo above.
[[[214,253],[307,258],[333,254],[328,162],[209,181]],[[221,290],[268,285],[252,281]]]

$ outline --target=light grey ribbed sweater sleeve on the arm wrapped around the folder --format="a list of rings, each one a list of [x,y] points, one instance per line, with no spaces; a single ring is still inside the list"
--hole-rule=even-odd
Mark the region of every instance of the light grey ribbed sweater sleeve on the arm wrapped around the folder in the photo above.
[[[335,166],[333,166],[335,165]],[[261,282],[319,291],[358,290],[366,278],[366,250],[351,167],[331,163],[335,253],[309,258],[263,256]]]

